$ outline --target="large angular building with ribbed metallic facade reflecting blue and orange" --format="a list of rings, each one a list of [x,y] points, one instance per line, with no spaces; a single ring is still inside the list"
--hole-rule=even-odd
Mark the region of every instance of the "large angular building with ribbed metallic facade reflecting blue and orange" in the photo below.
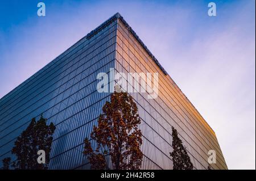
[[[120,86],[137,103],[142,123],[143,162],[141,169],[172,169],[171,127],[174,126],[187,148],[195,169],[207,169],[208,151],[216,151],[213,169],[228,169],[212,128],[181,92],[170,75],[120,14],[115,14],[72,45],[43,69],[0,99],[0,160],[11,157],[16,137],[32,117],[47,118],[56,125],[49,169],[89,169],[83,141],[89,137],[101,108],[111,91],[100,92],[99,73],[158,73],[157,97],[137,89],[133,78]],[[146,79],[145,79],[146,81]],[[109,80],[109,90],[117,79]],[[130,83],[131,82],[131,83]],[[130,87],[130,88],[127,88]],[[155,91],[155,90],[152,90]],[[2,167],[2,162],[0,163]]]

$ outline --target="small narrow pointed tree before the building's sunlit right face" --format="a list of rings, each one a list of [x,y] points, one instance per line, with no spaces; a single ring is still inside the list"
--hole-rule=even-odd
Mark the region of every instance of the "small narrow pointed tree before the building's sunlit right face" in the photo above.
[[[177,130],[172,127],[172,148],[170,155],[174,162],[174,170],[193,170],[193,164],[190,161],[187,150],[178,137]]]

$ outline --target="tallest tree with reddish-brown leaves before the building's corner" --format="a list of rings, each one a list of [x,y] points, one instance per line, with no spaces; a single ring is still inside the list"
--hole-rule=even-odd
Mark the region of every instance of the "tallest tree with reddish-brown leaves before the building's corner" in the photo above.
[[[111,169],[107,157],[115,170],[140,169],[143,154],[138,125],[141,120],[133,98],[127,92],[114,91],[102,111],[98,126],[94,125],[90,134],[91,141],[96,142],[95,149],[88,138],[84,141],[83,153],[91,169]]]

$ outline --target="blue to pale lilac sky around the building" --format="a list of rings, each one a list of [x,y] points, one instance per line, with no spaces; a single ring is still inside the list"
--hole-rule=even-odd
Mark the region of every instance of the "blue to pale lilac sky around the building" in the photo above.
[[[0,98],[116,12],[216,132],[228,168],[255,169],[254,0],[1,1]]]

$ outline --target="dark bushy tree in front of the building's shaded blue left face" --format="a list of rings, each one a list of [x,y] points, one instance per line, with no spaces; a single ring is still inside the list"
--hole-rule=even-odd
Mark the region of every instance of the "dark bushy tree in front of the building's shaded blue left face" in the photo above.
[[[53,123],[47,125],[46,122],[47,120],[43,116],[38,121],[33,118],[27,129],[14,142],[14,147],[11,150],[11,153],[16,155],[16,160],[11,165],[14,169],[48,169],[49,153],[51,151],[55,125]],[[45,151],[46,163],[38,163],[39,150]],[[3,159],[4,166],[9,159]]]

